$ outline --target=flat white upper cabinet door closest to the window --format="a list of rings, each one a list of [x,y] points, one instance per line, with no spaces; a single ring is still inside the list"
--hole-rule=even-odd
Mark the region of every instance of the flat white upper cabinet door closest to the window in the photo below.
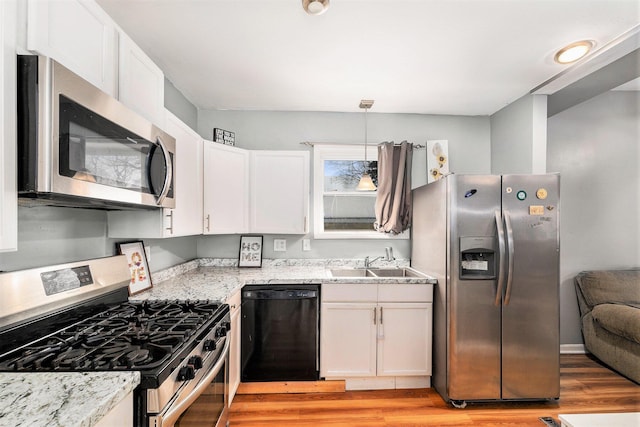
[[[309,153],[253,151],[251,155],[251,231],[307,233]]]

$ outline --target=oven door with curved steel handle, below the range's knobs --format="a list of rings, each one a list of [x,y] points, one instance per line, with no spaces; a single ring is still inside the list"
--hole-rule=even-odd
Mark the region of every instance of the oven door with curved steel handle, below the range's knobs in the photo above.
[[[201,369],[197,385],[180,393],[161,414],[151,417],[156,427],[225,427],[229,418],[229,345],[227,335],[222,351],[208,369]],[[199,378],[201,377],[201,378]]]

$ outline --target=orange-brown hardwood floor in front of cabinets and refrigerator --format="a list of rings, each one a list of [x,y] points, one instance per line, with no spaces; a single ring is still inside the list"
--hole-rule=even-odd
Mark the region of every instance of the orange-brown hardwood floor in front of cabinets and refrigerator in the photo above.
[[[558,402],[447,405],[434,389],[236,395],[232,427],[537,426],[558,414],[640,412],[640,386],[586,355],[562,355]],[[612,426],[613,427],[613,426]]]

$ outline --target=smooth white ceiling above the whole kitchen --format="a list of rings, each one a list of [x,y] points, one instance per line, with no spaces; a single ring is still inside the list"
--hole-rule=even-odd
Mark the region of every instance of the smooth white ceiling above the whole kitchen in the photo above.
[[[97,0],[198,108],[488,115],[640,23],[639,0]]]

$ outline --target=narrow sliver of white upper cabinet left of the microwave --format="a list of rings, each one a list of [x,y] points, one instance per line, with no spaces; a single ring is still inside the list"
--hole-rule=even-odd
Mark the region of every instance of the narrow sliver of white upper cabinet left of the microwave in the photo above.
[[[18,246],[16,0],[0,1],[0,252]]]

